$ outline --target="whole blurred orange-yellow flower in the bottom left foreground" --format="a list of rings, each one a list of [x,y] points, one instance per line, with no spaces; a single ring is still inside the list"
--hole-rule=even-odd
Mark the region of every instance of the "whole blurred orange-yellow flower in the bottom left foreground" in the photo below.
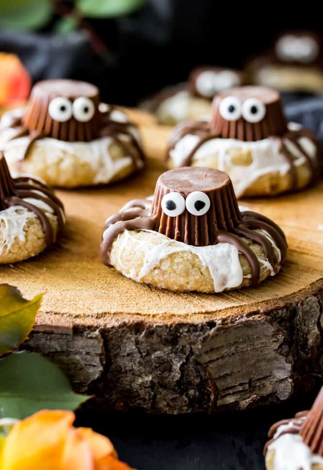
[[[42,410],[17,422],[0,449],[1,470],[131,470],[107,437],[74,428],[71,411]]]

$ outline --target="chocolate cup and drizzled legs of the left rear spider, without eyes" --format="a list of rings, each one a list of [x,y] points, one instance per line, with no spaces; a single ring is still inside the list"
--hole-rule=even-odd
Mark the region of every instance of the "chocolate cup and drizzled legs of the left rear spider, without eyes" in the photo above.
[[[85,97],[94,104],[93,117],[81,122],[72,116],[68,121],[55,121],[49,113],[49,105],[54,98],[64,97],[71,103],[79,97]],[[133,130],[136,125],[131,122],[117,122],[113,119],[113,106],[104,112],[100,111],[99,90],[94,85],[73,80],[46,80],[37,83],[32,90],[29,104],[21,118],[13,118],[6,128],[16,129],[10,139],[28,137],[28,143],[20,159],[28,157],[35,140],[50,137],[68,142],[90,142],[101,137],[111,137],[129,155],[136,168],[142,167],[143,150]],[[4,126],[1,126],[1,131]],[[124,139],[126,137],[126,139]]]

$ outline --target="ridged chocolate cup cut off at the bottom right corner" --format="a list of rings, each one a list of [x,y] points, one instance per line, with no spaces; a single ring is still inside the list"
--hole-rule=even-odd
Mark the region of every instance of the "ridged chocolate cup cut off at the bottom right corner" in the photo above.
[[[323,457],[323,387],[306,416],[300,435],[312,453]]]

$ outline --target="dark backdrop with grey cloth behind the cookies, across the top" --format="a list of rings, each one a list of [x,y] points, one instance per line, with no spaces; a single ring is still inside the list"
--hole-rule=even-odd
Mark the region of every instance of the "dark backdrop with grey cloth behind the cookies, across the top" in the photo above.
[[[243,67],[248,57],[268,48],[278,32],[322,31],[314,3],[284,11],[282,6],[148,0],[126,17],[87,20],[107,52],[93,52],[88,31],[59,38],[49,33],[51,24],[37,34],[0,32],[0,50],[17,52],[34,81],[84,79],[101,88],[105,101],[134,105],[165,85],[186,80],[195,66]]]

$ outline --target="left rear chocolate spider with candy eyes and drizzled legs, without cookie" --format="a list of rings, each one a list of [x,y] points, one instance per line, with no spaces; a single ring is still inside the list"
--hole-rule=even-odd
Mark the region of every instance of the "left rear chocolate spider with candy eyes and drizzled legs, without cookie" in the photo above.
[[[9,119],[0,131],[6,128],[15,130],[10,141],[27,138],[18,160],[24,160],[33,143],[43,138],[90,143],[111,137],[131,158],[135,169],[141,169],[144,154],[136,125],[114,106],[102,107],[99,89],[90,83],[66,79],[44,80],[34,85],[22,116]]]

